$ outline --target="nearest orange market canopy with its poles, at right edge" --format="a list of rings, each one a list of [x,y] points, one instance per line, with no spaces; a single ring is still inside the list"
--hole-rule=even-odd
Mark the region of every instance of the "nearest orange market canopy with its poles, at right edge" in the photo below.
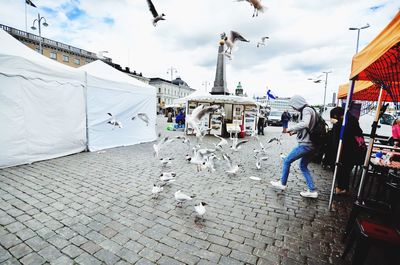
[[[352,60],[351,74],[349,91],[345,109],[345,119],[342,124],[341,139],[339,141],[338,154],[336,158],[336,166],[334,171],[334,177],[331,187],[331,196],[329,199],[329,209],[332,206],[333,190],[335,179],[338,171],[338,165],[340,162],[340,156],[342,151],[342,138],[344,127],[347,123],[346,113],[350,106],[354,89],[357,87],[357,81],[370,81],[374,84],[372,88],[379,91],[377,97],[377,109],[375,120],[371,129],[371,139],[369,141],[367,154],[363,165],[363,173],[360,180],[359,190],[357,199],[360,197],[362,192],[363,183],[367,174],[367,169],[370,162],[370,156],[372,153],[377,124],[381,112],[383,113],[386,107],[382,108],[382,102],[384,101],[398,101],[400,94],[400,12],[396,14],[393,20],[386,26],[385,29],[372,40],[361,52],[356,54]],[[365,90],[365,89],[364,89]],[[385,105],[386,106],[386,105]]]

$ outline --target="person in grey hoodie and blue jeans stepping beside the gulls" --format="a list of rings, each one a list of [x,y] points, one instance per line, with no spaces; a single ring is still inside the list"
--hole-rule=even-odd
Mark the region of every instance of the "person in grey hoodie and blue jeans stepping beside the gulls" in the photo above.
[[[271,181],[271,185],[280,190],[285,190],[289,170],[291,164],[300,159],[300,170],[304,175],[308,189],[300,192],[300,195],[308,198],[317,198],[318,192],[316,191],[314,181],[308,170],[308,164],[313,158],[315,147],[310,139],[310,129],[316,124],[316,112],[308,106],[306,100],[301,96],[293,96],[290,99],[289,105],[296,111],[300,112],[300,121],[293,127],[286,130],[289,135],[297,134],[298,145],[286,156],[283,160],[282,175],[277,181]]]

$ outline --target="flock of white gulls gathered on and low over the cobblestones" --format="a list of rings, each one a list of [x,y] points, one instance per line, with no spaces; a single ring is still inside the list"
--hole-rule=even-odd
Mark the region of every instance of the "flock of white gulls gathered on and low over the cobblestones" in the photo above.
[[[174,137],[161,137],[159,135],[160,140],[153,145],[153,151],[154,151],[154,156],[158,159],[160,166],[161,166],[161,171],[162,173],[159,176],[159,181],[157,180],[156,183],[153,184],[152,187],[152,198],[157,199],[159,195],[164,191],[165,186],[169,186],[171,183],[175,182],[177,179],[177,175],[175,172],[172,171],[164,171],[172,165],[174,158],[165,158],[161,157],[161,150],[168,146],[168,144],[175,142],[175,141],[181,141],[181,143],[187,145],[187,150],[188,152],[191,152],[191,154],[187,154],[185,156],[185,160],[187,163],[195,165],[197,172],[200,171],[207,171],[208,173],[213,173],[216,171],[215,169],[215,160],[224,160],[226,162],[226,169],[225,173],[228,176],[236,176],[241,168],[241,165],[235,163],[231,157],[228,155],[227,151],[230,150],[232,153],[233,152],[239,152],[241,147],[248,143],[249,140],[240,140],[237,137],[230,137],[229,140],[222,138],[216,134],[214,134],[215,139],[218,141],[213,143],[213,148],[207,148],[205,146],[202,146],[203,142],[203,137],[205,135],[205,132],[209,132],[209,129],[205,128],[204,124],[202,123],[202,118],[207,117],[207,114],[210,113],[215,113],[219,112],[221,115],[224,115],[224,110],[218,105],[212,105],[212,106],[205,106],[205,105],[199,105],[196,107],[191,115],[188,115],[187,117],[187,124],[188,128],[190,128],[191,132],[196,136],[196,143],[191,143],[189,137],[185,135],[179,135],[179,136],[174,136]],[[253,133],[252,138],[258,141],[259,144],[259,149],[253,149],[253,154],[256,159],[256,168],[261,169],[261,163],[262,161],[266,161],[268,157],[266,156],[267,154],[267,149],[272,147],[271,145],[268,145],[268,147],[264,147],[264,144],[262,141],[258,138],[258,136]],[[282,135],[280,137],[275,137],[270,139],[269,141],[266,142],[266,144],[271,144],[276,142],[277,144],[282,144]],[[229,144],[230,143],[230,144]],[[227,150],[228,149],[228,150]],[[284,155],[281,154],[281,158],[284,158]],[[260,180],[260,178],[257,177],[250,177],[251,179],[254,180]],[[182,207],[182,205],[188,201],[192,201],[195,196],[193,195],[188,195],[182,192],[181,190],[178,190],[174,193],[175,201],[177,203],[177,207]],[[194,205],[194,211],[195,211],[195,223],[198,221],[203,220],[204,221],[204,214],[206,213],[206,208],[205,206],[207,203],[200,201],[199,203]]]

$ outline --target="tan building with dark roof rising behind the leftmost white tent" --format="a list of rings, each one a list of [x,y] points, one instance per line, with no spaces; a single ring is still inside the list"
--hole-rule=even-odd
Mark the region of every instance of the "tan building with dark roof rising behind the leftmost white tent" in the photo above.
[[[0,24],[0,28],[7,31],[14,38],[16,38],[29,48],[39,52],[39,36],[2,24]],[[89,52],[68,44],[64,44],[43,37],[42,48],[44,56],[72,67],[79,67],[99,59],[97,55],[93,52]]]

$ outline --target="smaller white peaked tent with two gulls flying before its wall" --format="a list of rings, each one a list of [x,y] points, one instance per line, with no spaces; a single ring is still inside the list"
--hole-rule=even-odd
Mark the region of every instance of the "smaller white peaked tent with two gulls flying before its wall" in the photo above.
[[[156,88],[97,60],[87,72],[88,147],[96,151],[156,140]],[[107,123],[111,113],[122,128]],[[145,113],[148,125],[132,117]]]

